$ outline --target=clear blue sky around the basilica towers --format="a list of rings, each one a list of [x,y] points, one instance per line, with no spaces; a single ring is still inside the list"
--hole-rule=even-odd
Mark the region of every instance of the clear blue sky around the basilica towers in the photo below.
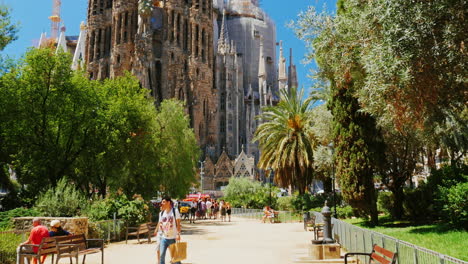
[[[86,20],[87,0],[62,0],[61,16],[67,28],[67,35],[78,35],[81,21]],[[276,23],[277,39],[283,40],[286,57],[289,58],[289,48],[293,48],[293,60],[297,66],[299,85],[308,88],[311,81],[307,78],[312,65],[303,65],[301,60],[306,52],[305,45],[294,36],[294,32],[286,24],[297,19],[297,14],[314,5],[321,10],[324,5],[329,11],[334,11],[336,0],[261,0],[262,8]],[[41,32],[50,32],[48,17],[52,13],[52,0],[0,0],[12,8],[12,18],[20,23],[18,40],[8,45],[3,54],[18,58],[34,40],[38,40]],[[289,63],[289,62],[288,62]]]

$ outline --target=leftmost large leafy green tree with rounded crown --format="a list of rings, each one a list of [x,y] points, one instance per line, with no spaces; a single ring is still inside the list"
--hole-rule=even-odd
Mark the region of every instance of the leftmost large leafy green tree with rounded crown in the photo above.
[[[70,64],[68,54],[33,49],[2,76],[2,156],[34,193],[73,174],[94,124],[93,98],[81,85],[87,80]]]

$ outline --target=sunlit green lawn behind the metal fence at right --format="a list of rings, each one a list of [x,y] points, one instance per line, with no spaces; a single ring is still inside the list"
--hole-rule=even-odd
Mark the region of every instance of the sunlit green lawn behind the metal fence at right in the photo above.
[[[415,225],[408,221],[392,221],[387,217],[379,218],[379,226],[370,227],[363,219],[346,219],[345,222],[382,233],[414,245],[468,261],[468,232],[454,230],[448,225]]]

